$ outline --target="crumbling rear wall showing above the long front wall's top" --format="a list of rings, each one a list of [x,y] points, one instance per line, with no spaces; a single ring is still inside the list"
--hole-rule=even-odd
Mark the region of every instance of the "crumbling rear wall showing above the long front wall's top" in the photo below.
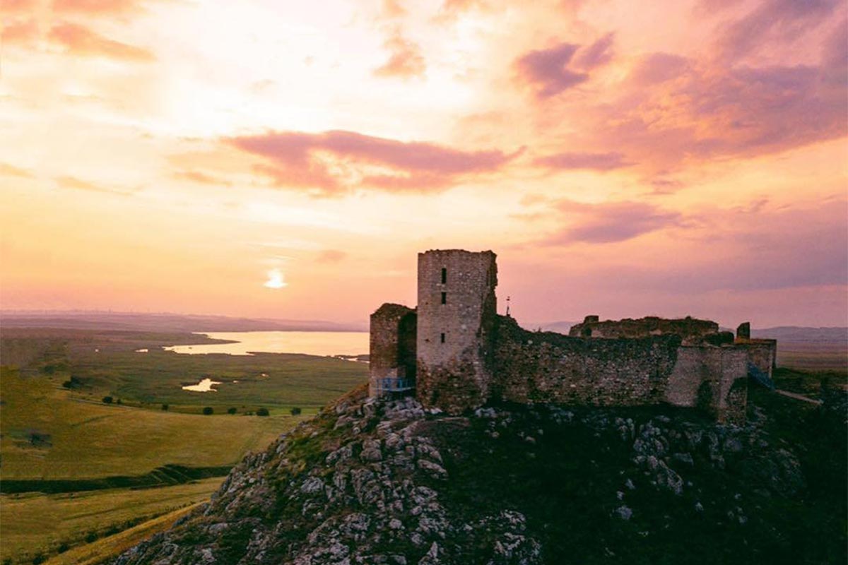
[[[718,324],[711,320],[695,318],[664,319],[648,316],[640,319],[604,320],[587,316],[583,324],[569,330],[572,337],[600,337],[607,339],[638,338],[649,335],[679,335],[683,342],[701,341],[708,335],[718,333]]]

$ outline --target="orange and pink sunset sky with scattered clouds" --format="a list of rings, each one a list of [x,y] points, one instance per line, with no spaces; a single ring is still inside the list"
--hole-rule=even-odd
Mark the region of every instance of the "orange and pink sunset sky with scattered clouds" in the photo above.
[[[848,4],[0,0],[0,307],[848,325]]]

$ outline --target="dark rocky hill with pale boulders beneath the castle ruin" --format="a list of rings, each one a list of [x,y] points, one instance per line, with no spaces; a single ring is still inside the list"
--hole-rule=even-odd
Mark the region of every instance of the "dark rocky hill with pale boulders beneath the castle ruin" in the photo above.
[[[839,398],[734,427],[673,407],[449,417],[354,391],[114,563],[845,562]],[[837,431],[793,443],[781,418],[795,440]]]

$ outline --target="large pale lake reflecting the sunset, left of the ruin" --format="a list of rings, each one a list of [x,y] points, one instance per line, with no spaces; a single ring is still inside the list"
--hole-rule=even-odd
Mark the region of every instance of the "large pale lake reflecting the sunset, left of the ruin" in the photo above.
[[[366,331],[213,331],[194,332],[215,340],[236,343],[208,343],[197,346],[170,346],[177,353],[305,353],[307,355],[364,355],[369,342]]]

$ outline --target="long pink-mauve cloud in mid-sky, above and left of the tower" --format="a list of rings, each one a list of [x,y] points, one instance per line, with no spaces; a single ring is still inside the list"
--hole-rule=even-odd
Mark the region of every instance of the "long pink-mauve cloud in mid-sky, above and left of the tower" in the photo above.
[[[470,175],[494,172],[518,154],[461,151],[339,130],[271,132],[226,141],[265,158],[257,172],[271,176],[278,186],[315,188],[325,194],[354,186],[387,191],[443,188]]]

